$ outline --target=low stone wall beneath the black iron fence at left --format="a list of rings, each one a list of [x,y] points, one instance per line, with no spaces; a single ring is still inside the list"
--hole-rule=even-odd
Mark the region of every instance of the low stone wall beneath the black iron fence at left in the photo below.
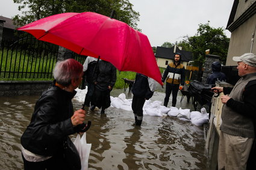
[[[0,81],[0,96],[40,96],[51,84],[52,81]]]

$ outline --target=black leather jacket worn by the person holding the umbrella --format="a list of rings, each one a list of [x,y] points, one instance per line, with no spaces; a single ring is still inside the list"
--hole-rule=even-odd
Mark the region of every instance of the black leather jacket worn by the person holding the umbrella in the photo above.
[[[76,132],[70,117],[73,115],[72,98],[58,87],[46,90],[37,101],[31,122],[21,136],[22,146],[34,154],[52,156],[63,150],[63,140]]]

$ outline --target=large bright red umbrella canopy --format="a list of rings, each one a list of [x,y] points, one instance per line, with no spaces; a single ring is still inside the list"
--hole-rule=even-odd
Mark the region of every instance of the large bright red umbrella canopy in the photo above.
[[[120,71],[135,71],[162,85],[148,37],[126,23],[97,13],[62,13],[18,28],[39,40],[80,55],[111,62]]]

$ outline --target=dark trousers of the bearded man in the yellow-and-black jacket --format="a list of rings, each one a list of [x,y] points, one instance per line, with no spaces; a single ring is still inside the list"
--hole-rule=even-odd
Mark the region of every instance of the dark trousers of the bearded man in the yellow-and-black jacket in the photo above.
[[[179,90],[180,85],[173,85],[171,83],[166,82],[166,92],[165,92],[165,98],[164,98],[164,106],[167,107],[169,98],[170,98],[170,93],[172,93],[172,106],[176,106],[177,102],[177,95],[178,95],[178,90]]]

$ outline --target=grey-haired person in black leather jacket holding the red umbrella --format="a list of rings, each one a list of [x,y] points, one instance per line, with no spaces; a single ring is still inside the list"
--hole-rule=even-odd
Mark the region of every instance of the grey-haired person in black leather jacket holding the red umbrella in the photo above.
[[[73,112],[72,98],[83,79],[75,59],[57,62],[54,85],[36,102],[31,122],[21,136],[24,169],[71,169],[64,160],[63,142],[83,124],[86,112]]]

